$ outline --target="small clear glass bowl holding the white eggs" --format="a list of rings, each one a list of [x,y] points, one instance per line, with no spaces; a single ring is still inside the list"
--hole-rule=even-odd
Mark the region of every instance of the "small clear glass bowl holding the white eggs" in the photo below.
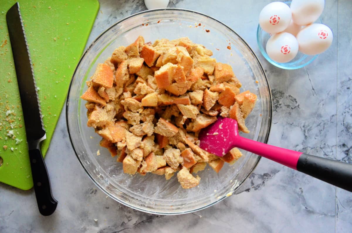
[[[291,2],[284,2],[287,5],[291,5]],[[320,21],[320,19],[318,19],[318,21]],[[259,50],[260,52],[263,54],[263,56],[265,57],[266,60],[268,60],[268,62],[270,62],[271,64],[275,65],[278,68],[281,69],[286,69],[286,70],[295,70],[295,69],[300,69],[302,67],[305,67],[306,65],[310,64],[311,62],[314,61],[315,58],[318,57],[318,55],[306,55],[301,53],[300,51],[298,51],[296,57],[294,59],[292,59],[290,62],[286,62],[286,63],[279,63],[279,62],[275,62],[274,60],[272,60],[268,53],[266,53],[266,43],[268,42],[270,38],[270,34],[263,31],[263,29],[260,27],[260,25],[258,24],[258,28],[257,28],[257,43],[259,46]]]

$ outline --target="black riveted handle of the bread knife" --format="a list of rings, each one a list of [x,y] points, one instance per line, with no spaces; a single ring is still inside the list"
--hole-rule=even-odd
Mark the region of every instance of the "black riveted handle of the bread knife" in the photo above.
[[[42,152],[39,149],[29,150],[29,158],[39,212],[48,216],[54,213],[57,206],[57,201],[51,193],[48,170],[46,170]]]

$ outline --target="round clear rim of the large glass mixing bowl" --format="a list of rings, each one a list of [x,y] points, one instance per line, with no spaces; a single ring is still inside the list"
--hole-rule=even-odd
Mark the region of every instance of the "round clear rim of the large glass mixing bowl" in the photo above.
[[[143,208],[140,208],[140,207],[137,207],[137,206],[133,206],[127,202],[124,202],[122,200],[119,200],[118,198],[114,197],[112,194],[108,193],[103,187],[101,187],[101,185],[96,182],[94,180],[94,178],[90,175],[90,173],[88,172],[88,170],[84,167],[83,163],[81,162],[81,159],[79,158],[78,154],[77,154],[77,151],[75,149],[75,146],[73,144],[73,138],[71,138],[71,134],[70,134],[70,126],[69,126],[69,122],[68,122],[68,108],[69,108],[69,97],[70,97],[70,91],[71,91],[71,87],[72,87],[72,83],[73,83],[73,77],[76,75],[76,72],[77,72],[77,69],[78,67],[80,66],[83,58],[86,56],[86,54],[89,52],[90,48],[92,48],[92,46],[100,39],[100,37],[103,36],[103,34],[107,33],[110,29],[112,29],[113,27],[115,27],[116,25],[122,23],[123,21],[127,20],[127,19],[130,19],[130,18],[133,18],[137,15],[140,15],[140,14],[145,14],[145,13],[150,13],[150,12],[156,12],[156,11],[184,11],[184,12],[190,12],[190,13],[195,13],[195,14],[199,14],[199,15],[202,15],[202,16],[205,16],[209,19],[212,19],[214,21],[216,21],[217,23],[220,23],[221,25],[225,26],[228,30],[230,30],[232,33],[234,33],[236,36],[238,36],[238,38],[240,40],[242,40],[242,42],[249,48],[249,50],[252,52],[252,55],[253,57],[256,59],[256,61],[258,62],[259,64],[259,68],[260,70],[263,72],[264,74],[264,78],[265,78],[265,82],[266,82],[266,85],[268,87],[268,93],[269,93],[269,111],[268,111],[268,118],[269,118],[269,122],[268,122],[268,132],[266,133],[265,137],[264,137],[264,142],[265,143],[268,143],[268,140],[269,140],[269,134],[270,134],[270,130],[271,130],[271,122],[272,122],[272,95],[271,95],[271,88],[270,88],[270,85],[269,85],[269,81],[268,81],[268,77],[266,76],[265,74],[265,70],[263,68],[263,65],[262,63],[260,63],[257,55],[254,53],[253,49],[249,46],[249,44],[237,33],[235,32],[234,30],[231,29],[231,27],[227,26],[225,23],[223,23],[222,21],[218,20],[218,19],[215,19],[213,17],[210,17],[209,15],[206,15],[206,14],[203,14],[201,12],[197,12],[197,11],[193,11],[193,10],[188,10],[188,9],[183,9],[183,8],[158,8],[158,9],[152,9],[152,10],[146,10],[146,11],[141,11],[141,12],[138,12],[138,13],[135,13],[135,14],[132,14],[130,16],[127,16],[119,21],[117,21],[116,23],[114,23],[112,26],[108,27],[106,30],[104,30],[97,38],[95,38],[93,40],[93,42],[87,47],[87,49],[84,51],[84,53],[82,54],[80,60],[78,61],[77,65],[76,65],[76,68],[75,68],[75,71],[72,75],[72,78],[71,78],[71,81],[70,81],[70,86],[69,86],[69,89],[68,89],[68,93],[67,93],[67,98],[66,98],[66,113],[65,113],[65,118],[66,118],[66,126],[67,126],[67,131],[68,131],[68,135],[69,135],[69,139],[70,139],[70,143],[71,143],[71,146],[75,152],[75,155],[78,159],[78,161],[80,162],[82,168],[84,169],[84,171],[86,172],[86,174],[88,175],[88,177],[90,178],[90,180],[93,181],[93,183],[101,190],[103,191],[103,193],[105,193],[106,195],[108,195],[109,197],[111,197],[113,200],[127,206],[127,207],[130,207],[132,209],[136,209],[136,210],[139,210],[141,212],[144,212],[144,213],[150,213],[150,214],[158,214],[158,215],[179,215],[179,214],[187,214],[187,213],[193,213],[193,212],[196,212],[198,210],[202,210],[202,209],[205,209],[205,208],[208,208],[210,206],[213,206],[214,204],[220,202],[221,200],[224,200],[225,198],[227,198],[227,196],[223,196],[221,197],[220,199],[210,203],[210,204],[207,204],[205,206],[202,206],[202,207],[199,207],[199,208],[196,208],[196,209],[192,209],[192,210],[187,210],[187,211],[179,211],[179,212],[172,212],[172,213],[165,213],[165,212],[157,212],[157,211],[152,211],[152,210],[147,210],[147,209],[143,209]],[[247,178],[252,174],[252,172],[254,171],[254,169],[256,169],[256,167],[258,166],[259,164],[259,161],[262,157],[261,156],[258,156],[258,160],[257,160],[257,163],[253,166],[253,168],[251,169],[251,171],[247,174],[247,176],[244,178],[244,180],[240,183],[238,183],[237,185],[237,188],[240,187],[241,184],[243,184],[243,182],[245,180],[247,180]],[[237,190],[237,188],[234,190],[234,193],[235,191]]]

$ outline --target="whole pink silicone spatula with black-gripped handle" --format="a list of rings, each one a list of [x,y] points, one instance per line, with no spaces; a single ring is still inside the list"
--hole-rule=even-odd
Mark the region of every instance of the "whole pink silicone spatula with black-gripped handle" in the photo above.
[[[252,152],[281,163],[319,180],[352,191],[352,164],[308,155],[239,136],[237,121],[218,118],[199,134],[200,147],[219,157],[233,147]]]

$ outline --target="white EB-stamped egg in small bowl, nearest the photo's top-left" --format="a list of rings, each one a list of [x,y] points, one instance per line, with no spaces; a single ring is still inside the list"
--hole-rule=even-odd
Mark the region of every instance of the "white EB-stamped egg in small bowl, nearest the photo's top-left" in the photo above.
[[[282,32],[290,22],[290,7],[283,2],[271,2],[259,14],[259,25],[268,33]]]

